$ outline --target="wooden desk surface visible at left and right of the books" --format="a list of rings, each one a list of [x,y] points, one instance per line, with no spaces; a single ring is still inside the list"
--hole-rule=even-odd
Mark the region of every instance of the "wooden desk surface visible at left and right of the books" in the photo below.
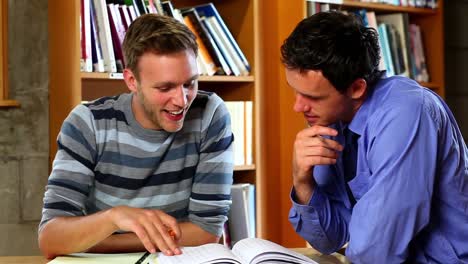
[[[311,248],[293,248],[292,250],[301,253],[320,264],[349,264],[346,257],[334,253],[332,255],[322,255]],[[49,260],[42,256],[11,256],[2,257],[0,256],[0,264],[46,264]]]

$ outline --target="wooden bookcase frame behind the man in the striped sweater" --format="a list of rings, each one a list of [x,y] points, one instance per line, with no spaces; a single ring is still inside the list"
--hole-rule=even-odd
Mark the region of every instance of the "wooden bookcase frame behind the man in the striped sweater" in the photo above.
[[[176,8],[210,2],[209,0],[173,0]],[[256,185],[257,235],[264,236],[262,228],[262,201],[260,146],[261,134],[261,75],[259,61],[259,0],[214,1],[234,38],[251,65],[250,76],[201,76],[199,89],[214,91],[226,101],[253,101],[253,165],[236,166],[235,182]],[[74,106],[101,96],[127,92],[125,83],[109,73],[80,72],[80,1],[49,1],[49,63],[50,107],[49,145],[50,164],[56,153],[56,138],[61,124]]]

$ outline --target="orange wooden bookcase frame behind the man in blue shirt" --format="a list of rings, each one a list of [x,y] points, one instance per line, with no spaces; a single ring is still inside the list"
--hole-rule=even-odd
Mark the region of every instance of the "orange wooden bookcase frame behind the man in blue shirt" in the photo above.
[[[330,3],[337,1],[313,1]],[[379,3],[343,0],[340,4],[331,4],[331,8],[341,10],[367,9],[376,14],[408,13],[410,23],[418,24],[423,35],[425,56],[430,75],[429,83],[422,83],[444,97],[444,34],[443,1],[438,0],[437,9],[400,7]],[[305,128],[302,115],[292,109],[294,92],[286,83],[284,67],[280,62],[280,47],[284,39],[292,32],[306,14],[306,0],[270,0],[263,1],[260,9],[262,17],[259,32],[262,39],[262,111],[267,113],[260,124],[264,166],[262,173],[266,181],[264,188],[268,192],[263,200],[268,212],[268,221],[263,224],[268,231],[268,238],[287,247],[302,247],[305,242],[296,235],[288,221],[291,207],[289,199],[292,186],[292,150],[297,132]]]

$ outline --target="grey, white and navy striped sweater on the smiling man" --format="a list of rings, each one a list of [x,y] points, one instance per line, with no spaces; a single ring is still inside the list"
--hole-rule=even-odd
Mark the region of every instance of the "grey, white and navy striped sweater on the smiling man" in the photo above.
[[[79,105],[64,121],[46,187],[41,229],[57,216],[118,205],[159,209],[220,235],[231,204],[231,121],[199,91],[176,133],[142,128],[132,94]]]

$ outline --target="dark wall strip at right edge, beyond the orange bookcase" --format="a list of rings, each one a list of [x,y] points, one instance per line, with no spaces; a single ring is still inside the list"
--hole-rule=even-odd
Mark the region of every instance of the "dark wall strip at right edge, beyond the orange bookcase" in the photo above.
[[[468,140],[468,1],[444,1],[446,100]]]

